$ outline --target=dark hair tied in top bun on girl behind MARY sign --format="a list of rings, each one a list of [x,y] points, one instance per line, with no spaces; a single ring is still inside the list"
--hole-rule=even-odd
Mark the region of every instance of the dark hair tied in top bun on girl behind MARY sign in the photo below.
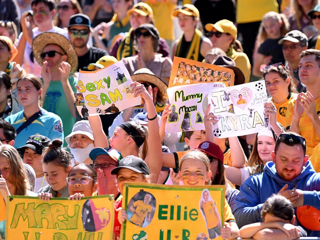
[[[45,164],[55,163],[66,169],[71,167],[72,155],[65,148],[62,148],[62,144],[60,139],[55,139],[47,148],[44,148],[41,155],[42,162]]]

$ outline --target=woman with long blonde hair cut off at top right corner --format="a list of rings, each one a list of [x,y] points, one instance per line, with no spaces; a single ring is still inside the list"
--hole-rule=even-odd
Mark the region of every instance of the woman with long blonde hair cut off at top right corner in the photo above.
[[[302,31],[302,28],[312,25],[311,18],[307,13],[317,4],[319,4],[319,0],[291,0],[291,14],[289,15],[291,30]]]

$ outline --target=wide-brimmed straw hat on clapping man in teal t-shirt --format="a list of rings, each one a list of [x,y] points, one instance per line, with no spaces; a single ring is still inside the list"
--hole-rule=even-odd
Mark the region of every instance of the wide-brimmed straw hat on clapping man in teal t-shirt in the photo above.
[[[43,52],[45,46],[49,44],[56,44],[60,46],[67,55],[67,62],[71,65],[70,73],[73,73],[78,68],[78,56],[72,43],[63,35],[59,33],[45,32],[39,34],[33,39],[32,51],[37,62],[42,66],[43,60],[40,55]]]

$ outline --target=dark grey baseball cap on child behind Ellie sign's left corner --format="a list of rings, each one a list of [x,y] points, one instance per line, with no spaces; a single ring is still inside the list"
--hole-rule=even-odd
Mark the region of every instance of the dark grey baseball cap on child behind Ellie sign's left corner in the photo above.
[[[118,167],[114,168],[111,171],[111,174],[116,175],[121,168],[128,168],[134,172],[149,175],[149,168],[145,161],[143,161],[140,157],[136,157],[133,155],[129,155],[121,159]]]

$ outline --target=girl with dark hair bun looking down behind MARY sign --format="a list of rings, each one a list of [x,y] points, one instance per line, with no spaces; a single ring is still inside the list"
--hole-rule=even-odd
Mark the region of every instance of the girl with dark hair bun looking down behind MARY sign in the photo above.
[[[71,169],[71,154],[62,148],[62,141],[55,139],[42,151],[42,168],[49,185],[38,191],[39,198],[48,201],[51,197],[68,197],[67,177]]]

